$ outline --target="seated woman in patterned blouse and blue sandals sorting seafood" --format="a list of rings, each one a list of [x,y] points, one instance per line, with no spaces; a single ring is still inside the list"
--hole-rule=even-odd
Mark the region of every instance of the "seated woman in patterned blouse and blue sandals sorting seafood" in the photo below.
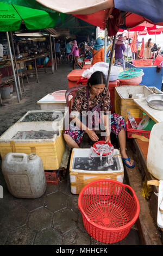
[[[78,89],[70,114],[73,121],[71,121],[69,127],[66,127],[64,138],[71,148],[79,148],[84,132],[93,142],[97,142],[99,138],[95,133],[95,127],[99,130],[99,127],[102,127],[103,124],[105,142],[111,142],[110,132],[114,133],[120,142],[124,164],[133,168],[135,163],[126,153],[126,123],[124,118],[118,114],[111,114],[111,118],[109,118],[110,92],[106,88],[106,84],[104,73],[96,71],[87,81],[87,86]],[[93,113],[95,111],[97,113],[96,117],[92,114],[87,115],[88,118],[85,117],[85,112]],[[110,124],[109,120],[111,121]]]

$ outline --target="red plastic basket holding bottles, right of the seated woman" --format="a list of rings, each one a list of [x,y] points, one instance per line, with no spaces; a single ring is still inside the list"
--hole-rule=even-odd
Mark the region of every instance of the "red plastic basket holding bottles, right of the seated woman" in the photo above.
[[[136,124],[139,125],[141,120],[142,120],[142,118],[135,118]],[[151,133],[151,131],[133,129],[130,124],[130,121],[128,119],[127,119],[127,124],[126,124],[126,130],[127,130],[128,138],[132,138],[132,134],[136,134],[136,135],[144,136],[149,139],[149,136]]]

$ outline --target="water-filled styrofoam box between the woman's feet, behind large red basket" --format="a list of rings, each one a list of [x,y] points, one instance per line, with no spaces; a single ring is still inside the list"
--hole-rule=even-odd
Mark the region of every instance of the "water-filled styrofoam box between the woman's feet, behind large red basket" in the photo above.
[[[74,169],[74,163],[76,157],[88,157],[90,154],[89,149],[76,149],[72,150],[70,160],[70,184],[71,193],[79,194],[82,188],[89,184],[91,181],[99,179],[111,179],[123,182],[124,168],[118,149],[114,149],[114,157],[116,157],[117,170],[82,170]],[[96,153],[93,153],[95,157],[99,157]],[[109,168],[109,167],[108,167]]]

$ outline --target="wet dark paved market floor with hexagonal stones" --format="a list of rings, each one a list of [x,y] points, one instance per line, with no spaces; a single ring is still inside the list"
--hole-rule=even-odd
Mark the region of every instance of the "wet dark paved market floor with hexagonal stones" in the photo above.
[[[39,83],[30,78],[25,84],[23,100],[17,97],[4,100],[0,107],[0,135],[29,110],[40,109],[36,101],[48,93],[68,88],[67,75],[71,66],[62,64],[53,75],[39,72]],[[26,80],[24,79],[24,82]],[[1,160],[0,160],[1,166]],[[1,169],[0,185],[0,245],[106,245],[93,239],[85,230],[78,209],[78,195],[70,190],[68,173],[58,185],[47,185],[47,190],[38,199],[13,197],[7,189]],[[134,225],[125,239],[114,245],[140,245]]]

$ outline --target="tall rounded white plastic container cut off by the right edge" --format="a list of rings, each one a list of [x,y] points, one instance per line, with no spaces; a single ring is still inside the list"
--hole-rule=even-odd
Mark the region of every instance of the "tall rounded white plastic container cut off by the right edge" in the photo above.
[[[147,168],[156,179],[163,180],[163,122],[156,123],[149,137]]]

